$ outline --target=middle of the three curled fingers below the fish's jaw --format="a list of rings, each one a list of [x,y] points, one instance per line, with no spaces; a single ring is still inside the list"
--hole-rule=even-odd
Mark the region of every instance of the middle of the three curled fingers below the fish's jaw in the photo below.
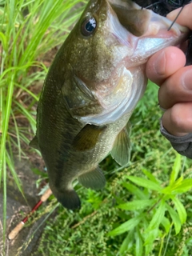
[[[177,102],[192,102],[192,66],[185,66],[166,79],[158,90],[158,102],[163,109]]]

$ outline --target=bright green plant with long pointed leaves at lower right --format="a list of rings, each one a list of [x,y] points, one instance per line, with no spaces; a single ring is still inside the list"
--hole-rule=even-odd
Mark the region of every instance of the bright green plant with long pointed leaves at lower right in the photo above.
[[[174,225],[175,234],[180,232],[182,225],[186,223],[187,214],[182,200],[179,199],[179,194],[191,190],[192,178],[183,179],[182,175],[178,178],[179,170],[181,170],[181,155],[177,154],[167,186],[162,186],[163,182],[155,178],[148,170],[142,170],[147,178],[126,176],[139,188],[128,182],[123,184],[134,194],[134,200],[119,204],[118,208],[132,211],[133,216],[108,234],[116,236],[129,231],[122,242],[120,252],[125,251],[133,240],[132,243],[136,244],[135,255],[144,255],[144,248],[145,255],[149,255],[153,250],[154,241],[161,239],[163,243],[172,225]],[[145,229],[141,233],[139,230],[144,226]],[[130,233],[134,233],[134,236],[130,236]],[[162,255],[162,247],[159,255]]]

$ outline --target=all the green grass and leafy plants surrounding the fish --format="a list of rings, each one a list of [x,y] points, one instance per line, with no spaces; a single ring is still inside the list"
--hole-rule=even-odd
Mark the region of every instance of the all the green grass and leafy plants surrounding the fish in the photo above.
[[[0,180],[5,216],[6,166],[22,193],[12,152],[17,147],[20,158],[25,156],[21,145],[34,134],[46,56],[66,38],[83,3],[0,1]],[[64,210],[51,198],[48,210],[57,207],[58,214],[46,223],[34,255],[190,255],[191,161],[176,154],[162,138],[157,93],[158,87],[149,83],[131,117],[129,166],[119,167],[107,157],[101,163],[107,180],[104,190],[76,186],[82,199],[79,211]],[[6,230],[6,218],[3,224]]]

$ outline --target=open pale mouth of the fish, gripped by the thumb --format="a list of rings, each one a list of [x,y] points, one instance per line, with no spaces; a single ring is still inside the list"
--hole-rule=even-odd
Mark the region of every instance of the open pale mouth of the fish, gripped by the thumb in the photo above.
[[[186,27],[180,26],[177,23],[173,24],[168,18],[155,14],[151,10],[142,8],[135,2],[108,0],[108,3],[112,9],[110,13],[116,16],[121,26],[135,37],[157,35],[158,38],[165,38],[166,36],[169,37],[170,33],[179,35],[188,32]],[[111,17],[110,21],[114,23],[114,18]],[[168,31],[169,29],[171,31]],[[167,34],[165,33],[165,30],[168,31]],[[118,30],[116,27],[115,31],[119,31],[118,34],[120,35],[120,38],[122,38],[122,30],[119,26]]]

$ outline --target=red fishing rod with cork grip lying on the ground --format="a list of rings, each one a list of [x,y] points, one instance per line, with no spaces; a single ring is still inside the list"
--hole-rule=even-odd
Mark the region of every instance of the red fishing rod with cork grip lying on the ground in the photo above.
[[[39,206],[42,205],[42,202],[46,202],[46,200],[48,198],[50,198],[50,195],[52,194],[52,191],[50,190],[50,187],[46,190],[46,192],[44,194],[42,194],[42,197],[40,198],[40,200],[38,201],[38,203],[33,207],[32,210],[30,210],[30,212],[26,215],[25,218],[22,219],[21,222],[18,223],[17,226],[14,227],[13,230],[10,231],[10,234],[8,234],[8,238],[10,240],[13,240],[18,233],[20,232],[20,230],[22,230],[23,226],[26,224],[26,222],[29,220],[30,216],[32,214],[34,214],[34,212],[36,210],[38,210]]]

